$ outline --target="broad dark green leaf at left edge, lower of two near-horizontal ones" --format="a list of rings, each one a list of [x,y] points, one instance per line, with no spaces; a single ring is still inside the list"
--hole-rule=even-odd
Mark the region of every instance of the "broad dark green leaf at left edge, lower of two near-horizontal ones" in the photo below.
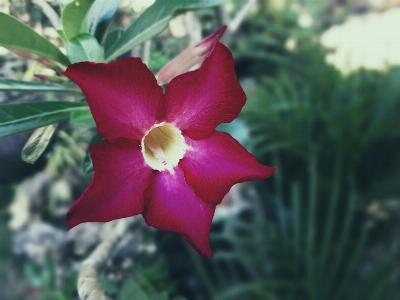
[[[29,131],[62,120],[87,109],[84,102],[46,101],[0,105],[0,138]]]

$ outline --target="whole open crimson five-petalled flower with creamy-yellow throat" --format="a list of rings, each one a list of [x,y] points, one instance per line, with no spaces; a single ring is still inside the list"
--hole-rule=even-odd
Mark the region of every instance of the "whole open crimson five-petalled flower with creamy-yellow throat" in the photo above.
[[[216,205],[235,183],[275,171],[215,130],[246,102],[229,50],[216,43],[199,69],[172,79],[165,93],[140,58],[79,62],[64,75],[86,95],[105,138],[89,148],[94,176],[68,211],[70,228],[142,214],[212,256]]]

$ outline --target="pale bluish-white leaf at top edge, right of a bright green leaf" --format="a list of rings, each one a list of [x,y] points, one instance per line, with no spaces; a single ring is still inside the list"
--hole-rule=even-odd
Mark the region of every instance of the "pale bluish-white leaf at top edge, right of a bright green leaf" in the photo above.
[[[96,0],[88,13],[89,32],[99,43],[103,41],[108,25],[121,0]]]

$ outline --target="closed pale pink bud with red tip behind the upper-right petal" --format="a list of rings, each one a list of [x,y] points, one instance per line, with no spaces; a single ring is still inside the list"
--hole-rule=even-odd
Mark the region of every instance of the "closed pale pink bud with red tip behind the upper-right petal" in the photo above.
[[[186,72],[192,66],[201,62],[210,54],[215,44],[224,34],[225,30],[226,26],[222,26],[197,44],[188,47],[185,51],[166,64],[156,75],[158,84],[163,85],[170,82],[172,78]]]

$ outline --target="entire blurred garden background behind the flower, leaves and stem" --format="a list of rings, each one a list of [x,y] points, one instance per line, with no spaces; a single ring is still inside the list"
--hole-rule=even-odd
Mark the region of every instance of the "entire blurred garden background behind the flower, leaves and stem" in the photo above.
[[[121,1],[112,27],[152,2]],[[0,11],[60,44],[38,4],[0,0]],[[248,100],[219,130],[277,171],[231,189],[211,259],[130,218],[103,287],[117,300],[400,299],[400,1],[227,0],[174,18],[131,55],[150,55],[156,73],[223,24]],[[0,67],[6,78],[54,75],[4,48]],[[0,103],[54,97],[73,96],[0,92]],[[90,181],[93,134],[60,123],[34,165],[21,159],[30,133],[0,140],[0,299],[79,299],[77,271],[103,224],[67,232],[65,213]]]

